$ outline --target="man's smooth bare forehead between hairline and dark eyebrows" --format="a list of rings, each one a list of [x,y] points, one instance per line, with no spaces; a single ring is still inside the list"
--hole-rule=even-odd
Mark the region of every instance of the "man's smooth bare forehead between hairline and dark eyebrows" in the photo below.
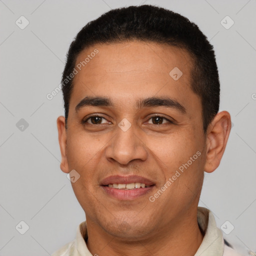
[[[143,96],[168,95],[187,107],[195,100],[198,107],[198,96],[190,88],[191,65],[186,50],[165,44],[95,44],[77,56],[69,105],[74,108],[85,96],[107,96],[113,102],[129,104],[134,100],[135,104]]]

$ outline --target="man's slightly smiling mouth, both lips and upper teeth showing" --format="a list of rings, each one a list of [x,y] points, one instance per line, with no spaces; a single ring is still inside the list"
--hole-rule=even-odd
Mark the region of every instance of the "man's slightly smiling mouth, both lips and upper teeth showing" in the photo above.
[[[155,183],[147,178],[130,176],[109,176],[101,182],[104,192],[118,200],[132,200],[148,193]]]

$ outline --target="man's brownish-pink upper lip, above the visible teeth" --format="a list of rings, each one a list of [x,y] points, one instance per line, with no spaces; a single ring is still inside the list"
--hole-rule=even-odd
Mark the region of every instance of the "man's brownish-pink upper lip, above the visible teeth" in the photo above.
[[[154,185],[155,183],[148,178],[138,176],[138,175],[111,175],[104,178],[101,181],[101,185],[108,185],[108,184],[129,184],[133,182],[140,182],[144,183],[145,185]]]

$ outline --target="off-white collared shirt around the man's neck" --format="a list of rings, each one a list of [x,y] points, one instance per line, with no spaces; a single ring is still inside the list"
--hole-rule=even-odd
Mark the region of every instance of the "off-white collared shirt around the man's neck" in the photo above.
[[[204,236],[194,256],[242,256],[224,244],[222,231],[216,226],[215,218],[210,210],[198,206],[197,222],[203,230]],[[93,256],[86,246],[84,240],[86,237],[86,221],[83,221],[76,229],[75,239],[55,251],[51,256]]]

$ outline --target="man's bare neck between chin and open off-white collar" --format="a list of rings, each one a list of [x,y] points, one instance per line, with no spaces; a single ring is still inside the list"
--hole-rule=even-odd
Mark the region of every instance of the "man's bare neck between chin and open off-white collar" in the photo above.
[[[197,209],[195,213],[197,212]],[[148,256],[160,255],[194,255],[200,246],[203,233],[197,223],[197,214],[178,216],[164,228],[151,232],[148,237],[134,240],[119,238],[105,232],[95,222],[86,218],[87,247],[92,255]]]

